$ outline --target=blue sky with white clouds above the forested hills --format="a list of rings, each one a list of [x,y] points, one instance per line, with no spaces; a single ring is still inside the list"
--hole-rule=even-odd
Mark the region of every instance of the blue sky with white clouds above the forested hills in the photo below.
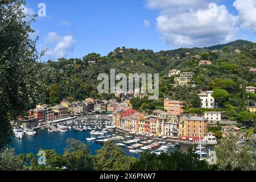
[[[174,0],[44,0],[46,17],[38,17],[32,27],[39,36],[38,49],[49,48],[45,59],[83,57],[90,52],[104,56],[122,46],[160,51],[211,46],[235,39],[255,42],[256,21],[244,23],[248,7],[242,2],[234,7],[231,0],[191,0],[189,5],[187,0],[182,1],[177,4]],[[27,0],[26,8],[37,13],[41,2]],[[204,18],[209,3],[215,3],[218,11],[216,18],[210,17],[212,23]],[[255,13],[256,4],[249,8]]]

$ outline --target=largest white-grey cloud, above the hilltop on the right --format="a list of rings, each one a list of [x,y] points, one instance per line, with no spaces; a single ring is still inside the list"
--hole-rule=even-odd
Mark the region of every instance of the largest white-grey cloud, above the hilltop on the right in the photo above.
[[[238,17],[207,0],[148,0],[160,8],[157,30],[170,46],[204,47],[236,39]]]

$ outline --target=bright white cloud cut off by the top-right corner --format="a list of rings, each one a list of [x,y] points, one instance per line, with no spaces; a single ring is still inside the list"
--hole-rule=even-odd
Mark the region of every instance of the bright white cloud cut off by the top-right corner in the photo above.
[[[241,27],[256,34],[256,1],[236,0],[233,3],[239,13]]]

